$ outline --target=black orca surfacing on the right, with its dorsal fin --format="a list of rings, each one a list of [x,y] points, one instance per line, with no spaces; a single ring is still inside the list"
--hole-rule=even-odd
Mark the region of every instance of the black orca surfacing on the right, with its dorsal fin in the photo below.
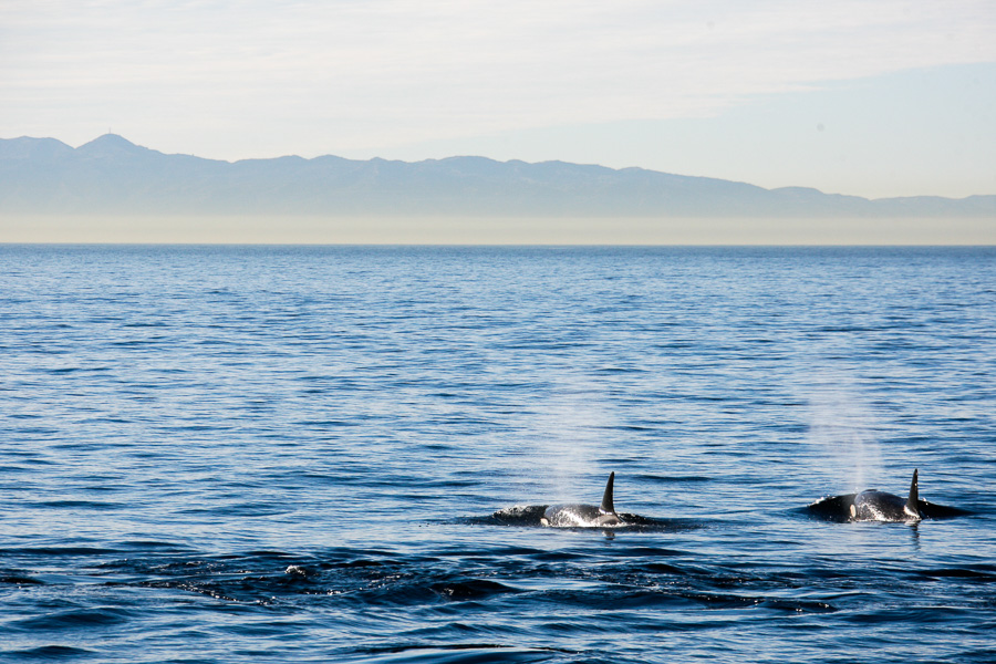
[[[956,507],[921,500],[917,470],[913,470],[913,481],[910,483],[910,494],[906,498],[876,489],[868,489],[860,494],[820,498],[807,509],[816,517],[839,522],[903,521],[915,523],[922,519],[946,519],[969,513]]]

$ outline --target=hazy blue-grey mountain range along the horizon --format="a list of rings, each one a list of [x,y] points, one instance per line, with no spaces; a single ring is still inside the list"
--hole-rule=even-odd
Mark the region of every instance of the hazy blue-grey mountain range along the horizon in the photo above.
[[[483,157],[220,162],[106,134],[77,148],[0,139],[0,212],[591,217],[993,217],[996,196],[882,198]]]

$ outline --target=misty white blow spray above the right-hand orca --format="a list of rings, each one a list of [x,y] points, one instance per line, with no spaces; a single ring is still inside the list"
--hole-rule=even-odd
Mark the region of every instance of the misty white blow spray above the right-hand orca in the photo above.
[[[824,471],[838,486],[861,491],[881,467],[880,428],[860,390],[840,374],[809,376],[803,386],[809,405],[808,442],[820,452]]]

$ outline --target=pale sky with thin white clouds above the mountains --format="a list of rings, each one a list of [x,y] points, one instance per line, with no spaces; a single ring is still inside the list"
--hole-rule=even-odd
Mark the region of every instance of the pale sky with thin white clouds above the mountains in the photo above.
[[[996,3],[4,0],[0,137],[996,194]]]

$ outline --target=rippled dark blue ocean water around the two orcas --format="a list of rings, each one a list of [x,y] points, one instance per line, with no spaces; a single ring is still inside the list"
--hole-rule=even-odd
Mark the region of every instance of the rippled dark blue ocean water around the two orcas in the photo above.
[[[0,661],[993,662],[994,376],[992,248],[0,246]]]

